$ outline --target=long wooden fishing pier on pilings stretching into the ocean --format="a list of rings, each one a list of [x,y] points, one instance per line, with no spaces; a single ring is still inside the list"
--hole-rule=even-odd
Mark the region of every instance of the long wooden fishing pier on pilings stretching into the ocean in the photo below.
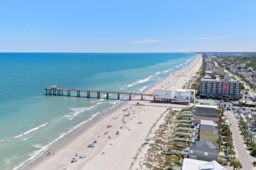
[[[106,99],[108,99],[109,94],[117,94],[117,99],[120,99],[120,95],[129,95],[129,100],[131,100],[133,96],[141,96],[141,100],[143,100],[143,96],[153,96],[151,94],[142,94],[137,92],[118,92],[118,91],[104,91],[104,90],[85,90],[85,89],[67,89],[67,88],[59,88],[58,86],[51,86],[45,88],[45,95],[54,95],[54,96],[63,96],[63,91],[67,92],[67,96],[71,96],[71,91],[76,92],[76,96],[80,97],[82,92],[86,92],[87,98],[90,98],[90,93],[97,94],[97,98],[100,98],[101,94],[106,94]]]

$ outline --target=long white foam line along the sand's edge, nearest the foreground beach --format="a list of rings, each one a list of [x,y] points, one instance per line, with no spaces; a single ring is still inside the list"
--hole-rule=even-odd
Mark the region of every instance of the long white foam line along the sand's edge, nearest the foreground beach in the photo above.
[[[46,150],[52,145],[52,143],[54,143],[54,142],[58,141],[59,139],[63,138],[66,134],[68,134],[68,133],[74,131],[76,128],[78,128],[78,127],[81,126],[82,124],[84,124],[84,123],[86,123],[86,122],[92,120],[92,118],[95,117],[95,116],[97,116],[99,113],[100,113],[100,112],[97,112],[97,113],[93,114],[91,118],[89,118],[88,120],[86,120],[86,121],[84,121],[84,122],[81,122],[81,123],[79,123],[78,125],[74,126],[74,127],[73,127],[72,129],[70,129],[67,133],[62,133],[62,134],[59,136],[59,138],[55,139],[54,141],[52,141],[52,142],[49,143],[48,145],[42,146],[42,148],[39,149],[39,150],[35,150],[33,153],[29,154],[29,155],[31,156],[30,158],[28,158],[27,160],[23,161],[20,165],[15,166],[15,167],[13,168],[13,170],[16,170],[16,169],[20,168],[20,167],[23,166],[25,163],[29,162],[30,160],[33,160],[36,156],[39,157],[39,156],[43,155],[44,151],[46,151]]]

